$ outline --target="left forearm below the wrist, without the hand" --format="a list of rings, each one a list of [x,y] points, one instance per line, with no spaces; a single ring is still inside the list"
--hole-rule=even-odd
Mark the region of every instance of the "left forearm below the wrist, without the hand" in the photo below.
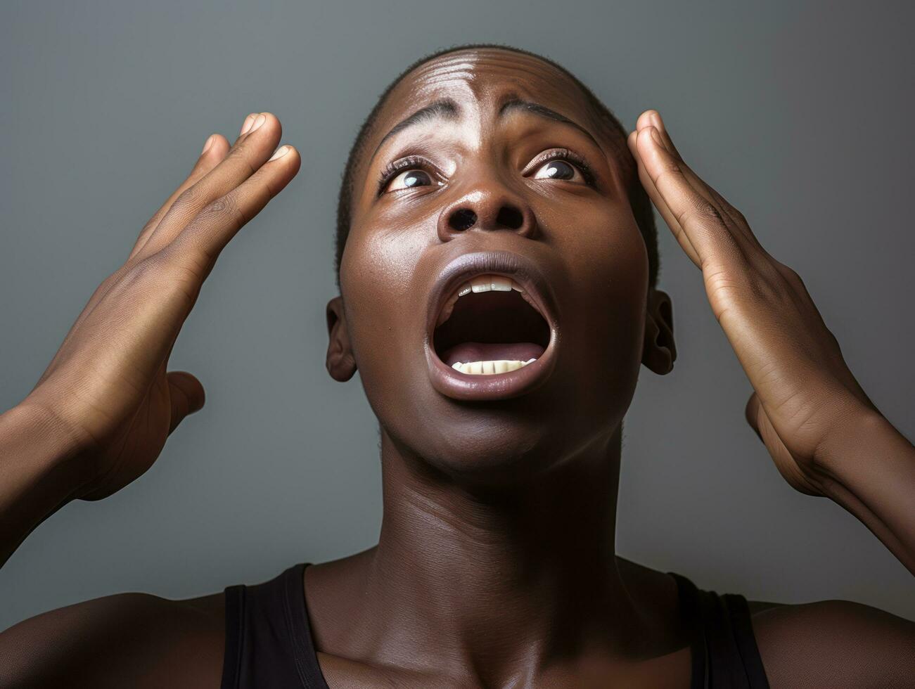
[[[0,414],[0,566],[81,488],[80,444],[37,408]]]

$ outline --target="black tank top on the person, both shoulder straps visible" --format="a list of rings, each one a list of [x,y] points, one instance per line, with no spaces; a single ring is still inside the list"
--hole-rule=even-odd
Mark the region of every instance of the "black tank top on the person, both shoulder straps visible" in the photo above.
[[[302,575],[309,564],[293,565],[256,586],[226,587],[221,689],[329,689],[308,622]],[[692,630],[691,689],[769,689],[747,599],[719,596],[668,574]]]

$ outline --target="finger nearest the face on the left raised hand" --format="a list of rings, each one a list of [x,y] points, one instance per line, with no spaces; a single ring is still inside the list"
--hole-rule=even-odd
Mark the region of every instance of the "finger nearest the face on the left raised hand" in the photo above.
[[[225,245],[285,188],[300,165],[296,149],[281,146],[250,178],[201,210],[163,253],[202,281]]]

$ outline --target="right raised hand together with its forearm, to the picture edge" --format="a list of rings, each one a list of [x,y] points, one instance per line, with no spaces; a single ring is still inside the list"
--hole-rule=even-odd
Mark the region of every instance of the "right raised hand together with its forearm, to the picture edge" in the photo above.
[[[655,111],[629,137],[642,185],[701,269],[754,393],[747,419],[796,490],[829,497],[915,573],[915,451],[849,371],[799,275],[690,169]]]

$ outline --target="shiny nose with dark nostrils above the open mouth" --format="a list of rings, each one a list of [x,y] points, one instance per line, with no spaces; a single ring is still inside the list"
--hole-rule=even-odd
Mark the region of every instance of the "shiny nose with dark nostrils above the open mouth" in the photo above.
[[[449,204],[438,217],[438,238],[442,242],[450,242],[470,230],[507,230],[533,239],[537,221],[530,206],[519,197],[477,189]]]

